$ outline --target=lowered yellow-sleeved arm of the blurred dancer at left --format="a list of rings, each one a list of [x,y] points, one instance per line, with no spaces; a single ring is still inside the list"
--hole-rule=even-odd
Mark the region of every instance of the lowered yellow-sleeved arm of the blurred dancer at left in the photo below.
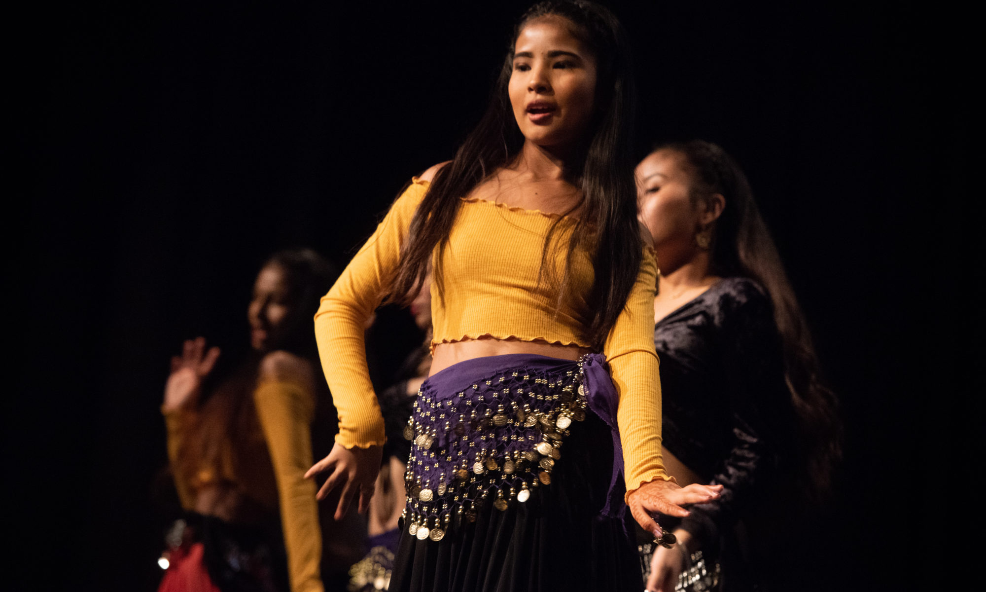
[[[321,592],[321,531],[315,482],[305,479],[312,465],[314,371],[306,360],[285,351],[267,354],[253,392],[277,480],[281,526],[288,552],[292,592]]]

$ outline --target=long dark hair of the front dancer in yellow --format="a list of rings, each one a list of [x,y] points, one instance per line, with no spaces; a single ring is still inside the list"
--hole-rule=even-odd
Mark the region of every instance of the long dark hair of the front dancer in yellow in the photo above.
[[[623,310],[642,257],[633,181],[635,88],[630,47],[622,27],[608,10],[584,0],[541,2],[521,17],[485,114],[462,142],[452,163],[435,176],[411,221],[409,240],[401,253],[401,267],[390,297],[404,300],[417,293],[436,247],[439,264],[434,279],[439,290],[443,289],[441,260],[458,213],[459,198],[511,163],[524,145],[507,94],[514,43],[530,21],[547,16],[569,21],[572,35],[593,51],[598,66],[596,109],[588,141],[581,148],[580,157],[572,159],[573,169],[567,172],[582,189],[581,202],[572,208],[581,206],[582,215],[569,239],[565,268],[555,281],[560,304],[569,296],[573,253],[580,246],[590,249],[596,280],[588,308],[593,317],[584,337],[594,347],[600,347]],[[543,271],[550,268],[547,261],[557,224],[558,221],[544,241],[542,277]],[[553,277],[550,273],[547,276]]]

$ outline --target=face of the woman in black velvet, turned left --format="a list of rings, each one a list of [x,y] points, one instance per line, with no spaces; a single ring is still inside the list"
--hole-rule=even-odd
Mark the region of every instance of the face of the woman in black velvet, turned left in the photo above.
[[[655,249],[689,245],[704,216],[691,198],[691,166],[672,150],[651,153],[637,165],[637,217],[651,231]]]

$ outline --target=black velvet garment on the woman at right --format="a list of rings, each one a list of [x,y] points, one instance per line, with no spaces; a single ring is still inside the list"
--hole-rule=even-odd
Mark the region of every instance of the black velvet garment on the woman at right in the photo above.
[[[725,590],[762,590],[755,517],[795,425],[770,298],[750,279],[724,278],[662,319],[654,343],[664,445],[703,481],[724,485],[721,499],[694,506],[681,526],[722,563]]]

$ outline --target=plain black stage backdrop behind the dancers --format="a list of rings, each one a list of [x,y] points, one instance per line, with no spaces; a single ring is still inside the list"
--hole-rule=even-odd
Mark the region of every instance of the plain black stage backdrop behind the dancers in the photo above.
[[[8,225],[27,257],[8,281],[29,331],[4,400],[7,513],[26,519],[25,588],[150,590],[169,356],[198,334],[243,350],[272,251],[344,264],[403,183],[451,158],[527,3],[83,4],[40,5],[21,32],[28,166]],[[738,158],[841,397],[839,495],[804,589],[916,586],[906,555],[949,501],[915,505],[934,485],[912,479],[931,475],[927,400],[953,395],[923,390],[956,364],[929,346],[948,329],[923,333],[961,268],[935,253],[971,230],[969,110],[929,108],[932,47],[967,55],[964,19],[946,38],[900,4],[608,4],[637,51],[642,149],[702,137]],[[417,336],[399,313],[382,324],[386,367]]]

